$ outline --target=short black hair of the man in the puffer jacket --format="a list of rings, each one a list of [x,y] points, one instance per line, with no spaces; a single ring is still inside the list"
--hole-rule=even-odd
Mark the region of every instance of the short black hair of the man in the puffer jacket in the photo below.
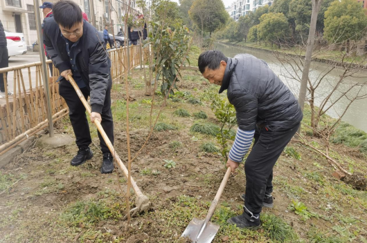
[[[206,68],[216,70],[220,68],[220,61],[227,62],[228,58],[220,50],[206,50],[199,56],[197,64],[200,72],[204,73]]]

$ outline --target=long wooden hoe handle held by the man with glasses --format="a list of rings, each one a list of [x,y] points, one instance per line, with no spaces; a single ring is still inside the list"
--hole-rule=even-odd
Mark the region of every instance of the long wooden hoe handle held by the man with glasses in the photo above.
[[[75,83],[73,77],[71,77],[71,75],[68,75],[68,77],[69,77],[70,84],[74,87],[76,93],[78,94],[80,100],[82,101],[84,107],[87,109],[87,111],[90,115],[91,114],[91,107],[89,106],[87,100],[84,98],[84,95],[82,94],[82,91],[80,91],[80,88]],[[111,141],[109,140],[109,138],[107,137],[107,134],[105,133],[105,130],[103,130],[102,125],[100,124],[100,121],[99,120],[94,120],[94,124],[96,125],[97,129],[99,130],[100,135],[102,136],[103,140],[105,140],[105,142],[107,144],[107,147],[109,148],[109,151],[111,152],[112,156],[114,156],[118,166],[120,166],[121,171],[123,171],[125,177],[127,178],[127,175],[128,175],[127,168],[125,167],[125,165],[121,161],[120,156],[118,156],[118,154],[116,153],[116,150],[115,150],[114,146],[112,145]],[[134,179],[131,178],[131,182],[132,182],[132,188],[134,189],[134,191],[136,193],[136,196],[137,197],[142,197],[143,193],[141,193],[141,191],[138,188],[138,186],[136,185],[136,182],[134,181]]]

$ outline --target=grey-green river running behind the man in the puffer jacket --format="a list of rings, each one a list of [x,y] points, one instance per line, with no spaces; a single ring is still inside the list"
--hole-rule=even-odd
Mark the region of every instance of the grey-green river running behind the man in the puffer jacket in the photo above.
[[[294,75],[302,75],[301,72],[295,71],[290,64],[280,64],[278,59],[274,54],[265,51],[252,50],[245,47],[240,46],[229,46],[223,43],[215,43],[215,49],[221,50],[226,57],[234,57],[239,53],[247,53],[251,54],[255,57],[263,59],[267,61],[271,70],[273,70],[280,79],[292,90],[294,95],[298,97],[300,83],[295,79],[291,78]],[[310,79],[317,80],[320,77],[328,72],[332,66],[329,64],[323,64],[320,62],[312,62],[311,70],[310,70]],[[298,72],[298,73],[296,73]],[[323,81],[321,82],[319,88],[316,89],[315,95],[315,104],[319,106],[321,101],[325,98],[326,95],[330,93],[332,90],[333,84],[337,84],[339,77],[341,75],[342,70],[340,68],[332,70],[328,75],[325,76]],[[344,79],[343,84],[340,86],[339,90],[345,90],[349,87],[350,82],[358,82],[359,84],[367,84],[367,72],[358,72],[354,76],[357,77],[347,77]],[[364,93],[367,93],[367,85],[364,87]],[[356,95],[357,90],[354,89],[350,92],[350,97]],[[310,97],[310,95],[307,95]],[[336,95],[332,96],[333,99],[337,99]],[[337,101],[330,110],[328,110],[327,114],[331,117],[337,118],[339,115],[343,113],[348,105],[348,99],[343,97],[339,101]],[[346,114],[342,118],[343,122],[348,122],[352,126],[355,126],[361,130],[367,132],[367,99],[358,99],[355,100],[350,107],[348,108]]]

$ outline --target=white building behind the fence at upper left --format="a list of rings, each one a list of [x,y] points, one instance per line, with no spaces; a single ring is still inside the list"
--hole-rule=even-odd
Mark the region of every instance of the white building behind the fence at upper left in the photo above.
[[[39,6],[41,6],[44,1],[50,1],[52,3],[57,2],[57,0],[43,0],[39,1]],[[117,33],[120,28],[123,28],[123,26],[121,26],[121,19],[123,15],[125,15],[125,12],[127,12],[129,4],[132,11],[140,11],[136,8],[136,0],[110,0],[111,14],[109,13],[108,0],[73,1],[75,1],[82,11],[88,15],[89,23],[92,23],[98,30],[102,30],[105,25],[110,25],[112,23],[115,33]],[[94,8],[92,8],[92,6]],[[114,10],[116,10],[116,12]],[[39,10],[39,13],[43,17],[41,10]],[[33,0],[0,0],[0,20],[6,30],[10,32],[22,32],[28,50],[31,50],[33,43],[37,40]]]

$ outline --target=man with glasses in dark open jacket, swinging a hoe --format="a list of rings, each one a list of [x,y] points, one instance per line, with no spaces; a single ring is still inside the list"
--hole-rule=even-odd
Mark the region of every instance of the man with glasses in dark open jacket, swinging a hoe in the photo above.
[[[82,19],[82,11],[73,1],[60,1],[53,6],[53,17],[47,18],[44,23],[44,44],[48,56],[60,70],[60,95],[69,106],[69,117],[79,147],[71,165],[78,166],[93,157],[89,148],[91,135],[85,108],[67,75],[73,76],[86,99],[91,97],[91,122],[98,119],[113,143],[111,61],[102,36]],[[114,169],[113,158],[100,133],[98,137],[103,153],[100,172],[111,173]]]

